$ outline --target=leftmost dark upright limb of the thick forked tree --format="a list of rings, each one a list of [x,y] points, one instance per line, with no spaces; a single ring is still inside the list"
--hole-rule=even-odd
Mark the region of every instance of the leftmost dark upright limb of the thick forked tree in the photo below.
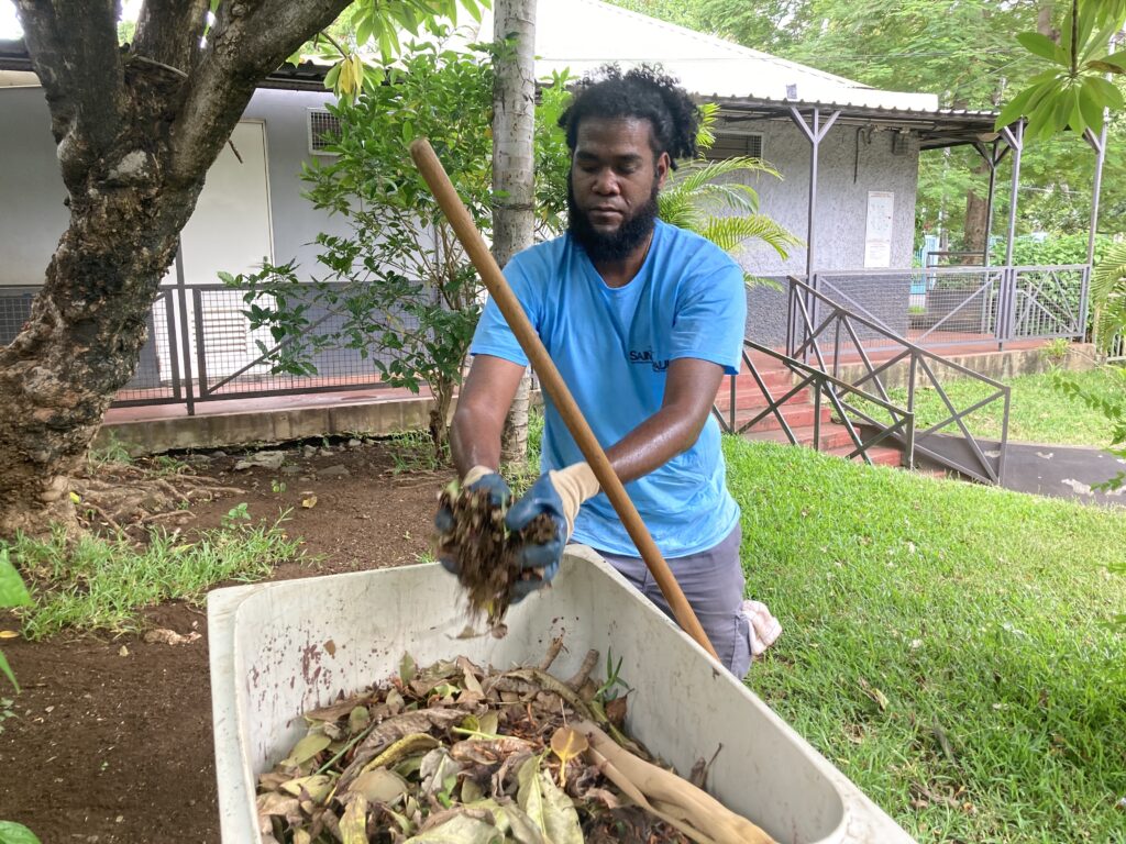
[[[51,131],[68,188],[114,142],[124,73],[111,0],[17,0],[32,66],[51,109]]]

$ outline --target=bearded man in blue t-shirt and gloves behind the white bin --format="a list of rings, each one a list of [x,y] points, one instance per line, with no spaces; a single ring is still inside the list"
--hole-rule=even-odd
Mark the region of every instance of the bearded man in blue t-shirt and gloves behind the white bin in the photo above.
[[[739,506],[724,483],[711,407],[739,371],[747,299],[740,267],[722,250],[656,219],[656,195],[676,159],[696,153],[698,111],[652,69],[604,69],[560,118],[572,152],[569,230],[516,255],[506,277],[615,472],[669,563],[721,661],[742,677],[751,661],[743,608]],[[490,302],[454,416],[464,483],[498,504],[500,438],[527,359]],[[511,504],[510,529],[540,513],[557,539],[525,549],[549,581],[568,540],[595,548],[671,611],[549,399],[544,474]]]

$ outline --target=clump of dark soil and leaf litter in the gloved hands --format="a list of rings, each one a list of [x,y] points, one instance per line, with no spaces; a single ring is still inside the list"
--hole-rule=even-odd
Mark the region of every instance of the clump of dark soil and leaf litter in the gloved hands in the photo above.
[[[486,614],[498,629],[512,602],[517,581],[543,580],[543,569],[522,568],[520,548],[555,538],[555,523],[540,514],[524,530],[504,526],[503,506],[492,503],[488,490],[461,488],[450,484],[439,497],[439,506],[453,513],[453,529],[437,538],[438,554],[457,566],[457,578],[465,589],[473,614]]]

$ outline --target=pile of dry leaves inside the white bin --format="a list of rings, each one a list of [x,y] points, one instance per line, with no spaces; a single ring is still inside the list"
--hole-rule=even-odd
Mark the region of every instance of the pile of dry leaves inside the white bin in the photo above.
[[[604,703],[610,683],[589,679],[597,653],[565,682],[551,675],[560,647],[539,666],[499,673],[465,657],[418,670],[408,656],[391,683],[307,712],[307,735],[259,779],[262,841],[759,841],[686,835],[673,809],[647,802],[651,772],[711,798],[644,762],[620,733],[625,698]],[[628,760],[615,767],[616,754]],[[622,772],[634,763],[643,767],[631,780]]]

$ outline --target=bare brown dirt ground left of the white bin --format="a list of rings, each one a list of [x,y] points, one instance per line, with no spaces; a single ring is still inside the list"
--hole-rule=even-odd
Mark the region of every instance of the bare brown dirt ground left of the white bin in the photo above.
[[[253,519],[286,512],[285,529],[304,540],[310,559],[279,566],[272,580],[383,568],[429,554],[437,495],[452,469],[396,474],[401,459],[383,443],[277,450],[280,465],[238,470],[242,452],[194,456],[197,472],[244,493],[194,502],[184,529],[215,527],[242,504]],[[175,485],[175,467],[164,468]],[[314,497],[313,506],[302,505]],[[2,641],[24,692],[0,689],[0,698],[15,698],[17,716],[0,733],[0,819],[26,824],[44,844],[220,839],[206,613],[172,603],[151,609],[146,620],[200,638]],[[0,613],[0,629],[15,627]]]

